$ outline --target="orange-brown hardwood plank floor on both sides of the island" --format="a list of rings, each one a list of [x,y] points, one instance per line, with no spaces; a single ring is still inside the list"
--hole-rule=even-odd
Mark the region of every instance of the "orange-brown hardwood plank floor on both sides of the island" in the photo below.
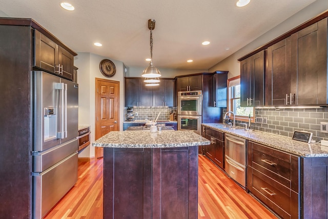
[[[208,158],[198,158],[198,218],[277,218]],[[103,158],[79,162],[77,183],[44,218],[103,218]]]

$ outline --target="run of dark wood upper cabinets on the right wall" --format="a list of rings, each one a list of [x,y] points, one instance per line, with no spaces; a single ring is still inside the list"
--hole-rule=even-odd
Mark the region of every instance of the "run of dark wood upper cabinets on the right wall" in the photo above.
[[[327,16],[238,59],[241,106],[327,106]]]

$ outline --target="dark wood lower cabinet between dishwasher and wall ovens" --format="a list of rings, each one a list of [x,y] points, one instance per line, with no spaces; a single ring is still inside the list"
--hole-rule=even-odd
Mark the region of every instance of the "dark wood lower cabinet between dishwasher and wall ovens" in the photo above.
[[[203,146],[203,153],[216,165],[224,169],[224,135],[223,132],[203,127],[203,137],[211,141],[210,145]]]

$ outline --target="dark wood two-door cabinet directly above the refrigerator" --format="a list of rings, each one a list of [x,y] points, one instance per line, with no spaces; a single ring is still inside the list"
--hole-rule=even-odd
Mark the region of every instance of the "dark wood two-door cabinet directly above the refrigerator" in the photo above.
[[[72,80],[74,55],[34,30],[34,66]]]

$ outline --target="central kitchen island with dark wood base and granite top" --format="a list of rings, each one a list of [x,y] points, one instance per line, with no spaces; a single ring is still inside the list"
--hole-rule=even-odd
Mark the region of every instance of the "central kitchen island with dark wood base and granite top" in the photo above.
[[[197,218],[198,147],[193,131],[112,131],[104,147],[104,218]]]

